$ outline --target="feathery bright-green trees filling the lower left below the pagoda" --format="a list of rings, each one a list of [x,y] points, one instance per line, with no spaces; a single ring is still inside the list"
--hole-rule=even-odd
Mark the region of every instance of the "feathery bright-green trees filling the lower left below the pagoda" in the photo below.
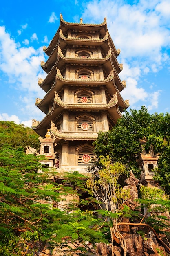
[[[57,182],[53,170],[37,172],[40,159],[26,155],[23,148],[0,150],[0,255],[51,255],[47,247],[51,252],[65,248],[69,255],[71,250],[88,250],[85,241],[94,246],[106,241],[100,230],[89,228],[95,223],[92,212],[79,209],[86,177],[68,173]],[[55,208],[68,195],[77,200]]]

